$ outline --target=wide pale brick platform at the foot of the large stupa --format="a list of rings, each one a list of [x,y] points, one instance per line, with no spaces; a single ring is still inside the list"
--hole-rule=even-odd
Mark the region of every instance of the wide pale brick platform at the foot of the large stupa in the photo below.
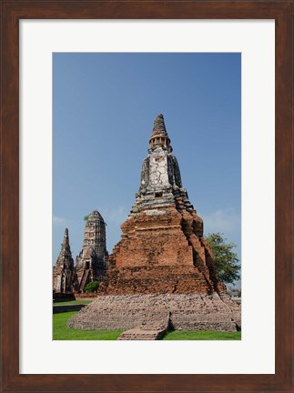
[[[98,297],[68,322],[70,328],[130,329],[167,321],[174,329],[236,331],[239,307],[213,295],[125,295]]]

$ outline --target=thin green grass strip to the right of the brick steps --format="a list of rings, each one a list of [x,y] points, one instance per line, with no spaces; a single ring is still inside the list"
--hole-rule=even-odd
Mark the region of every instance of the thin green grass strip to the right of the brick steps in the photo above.
[[[240,340],[241,332],[181,331],[167,333],[164,340]]]

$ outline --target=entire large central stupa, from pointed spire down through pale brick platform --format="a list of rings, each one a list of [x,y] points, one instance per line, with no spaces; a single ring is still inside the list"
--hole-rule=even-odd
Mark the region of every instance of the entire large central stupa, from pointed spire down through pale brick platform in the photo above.
[[[203,221],[182,186],[162,115],[154,122],[136,203],[121,229],[100,296],[72,317],[69,327],[162,326],[168,315],[173,328],[240,328],[240,307],[218,281]]]

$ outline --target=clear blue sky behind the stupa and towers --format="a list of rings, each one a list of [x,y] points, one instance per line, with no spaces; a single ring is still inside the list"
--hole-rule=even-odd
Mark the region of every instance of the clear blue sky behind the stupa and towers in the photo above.
[[[205,234],[224,233],[240,257],[240,109],[237,53],[54,54],[53,264],[66,227],[76,259],[94,209],[111,253],[159,113]]]

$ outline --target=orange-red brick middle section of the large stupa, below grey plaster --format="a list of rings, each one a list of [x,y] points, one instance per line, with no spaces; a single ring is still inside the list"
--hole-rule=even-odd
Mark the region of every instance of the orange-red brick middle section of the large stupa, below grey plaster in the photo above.
[[[159,213],[158,213],[159,212]],[[152,210],[151,210],[152,213]],[[142,209],[121,226],[98,294],[221,293],[210,250],[196,231],[202,220],[176,206]],[[209,259],[210,258],[210,259]]]

